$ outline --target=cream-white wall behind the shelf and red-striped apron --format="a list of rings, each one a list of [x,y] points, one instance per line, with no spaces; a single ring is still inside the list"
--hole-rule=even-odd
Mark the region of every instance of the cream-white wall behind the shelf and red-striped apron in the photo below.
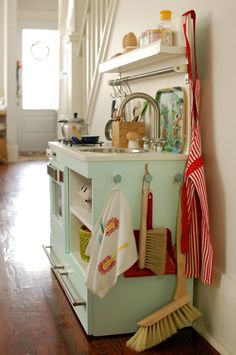
[[[121,50],[122,37],[137,35],[159,21],[159,10],[171,9],[176,23],[181,14],[195,9],[199,74],[202,82],[201,129],[205,162],[210,224],[215,253],[212,287],[196,282],[195,303],[203,312],[197,328],[221,354],[236,353],[236,166],[234,113],[235,13],[236,2],[226,0],[119,0],[107,58]],[[180,38],[181,40],[181,38]],[[103,74],[91,132],[104,138],[104,126],[110,118],[111,89]],[[154,96],[167,79],[132,85]]]

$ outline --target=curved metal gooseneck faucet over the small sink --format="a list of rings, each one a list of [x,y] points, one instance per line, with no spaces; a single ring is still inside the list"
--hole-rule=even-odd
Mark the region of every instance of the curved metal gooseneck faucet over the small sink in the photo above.
[[[160,143],[161,139],[160,139],[160,133],[159,133],[159,126],[160,126],[160,122],[159,122],[159,112],[158,112],[158,108],[157,108],[157,104],[155,102],[155,100],[148,94],[145,94],[144,92],[134,92],[132,94],[127,95],[124,100],[121,102],[120,107],[118,109],[117,112],[117,116],[118,117],[124,117],[125,113],[124,113],[124,109],[126,104],[133,100],[133,99],[144,99],[147,100],[153,108],[153,131],[154,131],[154,137],[149,139],[149,141],[153,142],[154,145],[154,150],[157,150],[157,145]]]

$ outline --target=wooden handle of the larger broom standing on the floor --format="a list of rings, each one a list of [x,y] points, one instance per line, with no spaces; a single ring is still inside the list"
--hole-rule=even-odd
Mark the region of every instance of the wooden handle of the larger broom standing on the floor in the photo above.
[[[174,300],[177,300],[188,294],[187,280],[185,277],[185,255],[181,251],[181,234],[182,234],[182,203],[181,195],[179,199],[179,207],[177,212],[176,225],[176,253],[177,253],[177,286],[175,290]]]

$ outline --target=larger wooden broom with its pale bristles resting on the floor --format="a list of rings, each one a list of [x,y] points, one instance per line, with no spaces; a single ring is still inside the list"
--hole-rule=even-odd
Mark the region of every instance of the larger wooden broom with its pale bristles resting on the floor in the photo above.
[[[201,316],[199,310],[189,303],[190,296],[185,278],[185,256],[181,253],[181,209],[180,199],[176,231],[177,286],[175,295],[171,303],[138,322],[140,328],[126,343],[135,351],[152,348]]]

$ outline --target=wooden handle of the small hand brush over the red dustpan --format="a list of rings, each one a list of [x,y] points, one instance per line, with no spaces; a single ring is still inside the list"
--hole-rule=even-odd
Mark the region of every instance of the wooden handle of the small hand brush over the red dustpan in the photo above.
[[[139,234],[139,269],[145,268],[145,256],[146,256],[146,240],[147,240],[147,206],[148,206],[148,193],[149,193],[149,183],[147,183],[147,188],[145,188],[145,180],[143,179],[142,184],[142,207],[141,207],[141,223],[140,223],[140,234]]]

